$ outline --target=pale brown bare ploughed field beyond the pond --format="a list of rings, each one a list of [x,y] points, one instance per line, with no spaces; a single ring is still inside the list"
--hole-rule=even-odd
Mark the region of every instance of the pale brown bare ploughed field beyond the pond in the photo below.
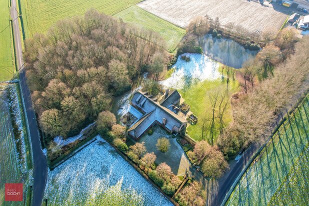
[[[233,22],[249,31],[277,32],[287,16],[247,0],[145,0],[137,5],[183,28],[195,16],[207,14],[223,25]]]

